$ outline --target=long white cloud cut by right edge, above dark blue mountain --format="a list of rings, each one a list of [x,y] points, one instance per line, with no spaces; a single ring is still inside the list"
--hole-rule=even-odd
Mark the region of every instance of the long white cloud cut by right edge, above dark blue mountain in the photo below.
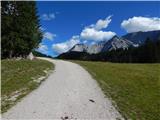
[[[132,17],[128,20],[123,20],[121,27],[128,33],[138,31],[153,31],[160,30],[160,18],[158,17]]]

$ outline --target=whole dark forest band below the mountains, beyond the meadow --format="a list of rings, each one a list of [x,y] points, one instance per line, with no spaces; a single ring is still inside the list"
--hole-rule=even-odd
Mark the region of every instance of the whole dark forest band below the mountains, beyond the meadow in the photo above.
[[[99,54],[68,52],[58,56],[60,59],[110,61],[120,63],[156,63],[160,62],[160,40],[147,39],[145,44],[128,49],[117,49]]]

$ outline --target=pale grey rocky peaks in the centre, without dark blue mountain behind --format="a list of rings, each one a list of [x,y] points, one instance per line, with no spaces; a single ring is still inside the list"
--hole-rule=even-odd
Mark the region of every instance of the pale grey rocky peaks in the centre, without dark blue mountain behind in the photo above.
[[[127,49],[130,46],[136,46],[133,42],[120,38],[118,36],[114,36],[109,41],[100,41],[93,45],[85,45],[85,44],[76,44],[71,48],[68,52],[87,52],[89,54],[97,54],[100,52],[116,50],[119,48]]]

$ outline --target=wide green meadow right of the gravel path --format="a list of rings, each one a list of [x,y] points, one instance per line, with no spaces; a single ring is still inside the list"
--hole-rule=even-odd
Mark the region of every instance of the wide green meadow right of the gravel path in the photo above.
[[[74,62],[91,73],[126,119],[160,119],[160,64]]]

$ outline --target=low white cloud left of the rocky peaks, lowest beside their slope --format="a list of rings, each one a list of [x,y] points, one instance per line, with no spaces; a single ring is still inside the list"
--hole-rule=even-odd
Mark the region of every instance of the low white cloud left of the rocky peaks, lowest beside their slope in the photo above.
[[[70,40],[67,40],[62,43],[53,44],[52,48],[57,53],[64,53],[71,49],[74,45],[78,44],[79,42],[79,36],[73,36]]]

